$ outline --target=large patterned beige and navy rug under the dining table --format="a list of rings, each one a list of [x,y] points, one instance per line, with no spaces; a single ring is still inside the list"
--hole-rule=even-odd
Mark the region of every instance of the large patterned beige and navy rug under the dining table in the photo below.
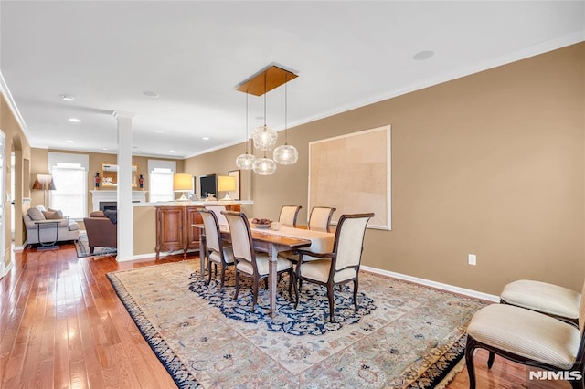
[[[179,387],[436,388],[462,359],[467,323],[484,306],[362,271],[357,314],[351,287],[335,290],[329,323],[324,291],[309,283],[295,312],[283,276],[271,319],[268,291],[252,313],[249,286],[233,301],[228,274],[223,292],[199,279],[198,259],[108,274]]]

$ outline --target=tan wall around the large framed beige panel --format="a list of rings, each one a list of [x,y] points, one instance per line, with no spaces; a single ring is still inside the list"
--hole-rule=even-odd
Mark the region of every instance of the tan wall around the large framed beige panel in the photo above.
[[[367,230],[364,265],[493,294],[514,279],[580,290],[584,112],[581,43],[289,130],[299,162],[242,178],[245,212],[276,218],[298,204],[305,222],[308,142],[390,124],[393,229]],[[242,150],[185,170],[227,173]]]

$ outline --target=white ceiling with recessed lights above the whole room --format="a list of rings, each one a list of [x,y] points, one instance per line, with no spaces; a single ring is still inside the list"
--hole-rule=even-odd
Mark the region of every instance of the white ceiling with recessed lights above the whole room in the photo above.
[[[235,88],[271,63],[299,75],[292,127],[583,40],[585,1],[0,1],[4,89],[33,147],[115,153],[120,110],[136,155],[170,158],[243,142]],[[284,87],[266,100],[282,130]],[[249,114],[251,132],[262,97]]]

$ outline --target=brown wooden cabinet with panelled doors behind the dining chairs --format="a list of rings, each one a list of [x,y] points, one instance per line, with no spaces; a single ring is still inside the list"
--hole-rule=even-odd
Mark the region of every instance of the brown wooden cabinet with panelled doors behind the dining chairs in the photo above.
[[[203,223],[199,210],[205,205],[160,205],[156,206],[156,259],[161,251],[199,248],[199,229],[192,225]],[[239,212],[239,204],[226,205],[229,211]]]

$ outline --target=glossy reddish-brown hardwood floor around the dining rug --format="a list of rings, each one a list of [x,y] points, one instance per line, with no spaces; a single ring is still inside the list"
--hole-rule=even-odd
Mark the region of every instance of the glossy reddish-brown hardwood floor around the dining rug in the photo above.
[[[112,289],[106,273],[183,260],[117,263],[77,258],[72,244],[16,253],[0,280],[1,388],[173,388],[174,381]],[[476,355],[478,388],[569,388],[566,382],[527,384],[527,369]],[[537,385],[538,384],[538,385]],[[468,387],[467,372],[448,388]]]

